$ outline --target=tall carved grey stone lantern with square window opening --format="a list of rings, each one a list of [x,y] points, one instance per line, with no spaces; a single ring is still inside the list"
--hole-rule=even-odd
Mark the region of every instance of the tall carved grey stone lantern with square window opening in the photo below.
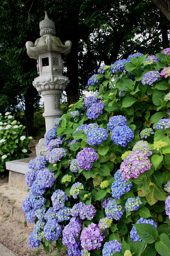
[[[60,38],[55,36],[55,24],[49,20],[47,12],[45,19],[39,23],[40,38],[33,44],[26,43],[27,54],[37,60],[38,77],[33,81],[33,86],[44,97],[44,113],[46,132],[53,127],[56,117],[63,115],[60,97],[69,79],[63,76],[63,59],[71,51],[71,41],[62,44]]]

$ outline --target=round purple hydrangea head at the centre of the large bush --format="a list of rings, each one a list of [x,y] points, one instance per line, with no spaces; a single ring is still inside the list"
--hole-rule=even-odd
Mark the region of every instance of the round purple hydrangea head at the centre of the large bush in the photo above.
[[[94,148],[84,148],[77,154],[77,163],[82,170],[89,171],[97,159],[97,150]]]

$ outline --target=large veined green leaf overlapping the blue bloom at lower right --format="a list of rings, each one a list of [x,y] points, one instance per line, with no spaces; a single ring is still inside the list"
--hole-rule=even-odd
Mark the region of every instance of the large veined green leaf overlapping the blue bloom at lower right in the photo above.
[[[134,224],[134,227],[137,229],[138,236],[146,243],[152,244],[157,240],[158,230],[147,223],[138,223]]]

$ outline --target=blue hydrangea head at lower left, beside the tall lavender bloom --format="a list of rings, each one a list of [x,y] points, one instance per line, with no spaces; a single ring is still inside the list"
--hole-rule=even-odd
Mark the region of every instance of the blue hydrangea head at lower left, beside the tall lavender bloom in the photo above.
[[[56,241],[62,236],[62,226],[55,219],[48,220],[44,227],[44,236],[47,241]]]

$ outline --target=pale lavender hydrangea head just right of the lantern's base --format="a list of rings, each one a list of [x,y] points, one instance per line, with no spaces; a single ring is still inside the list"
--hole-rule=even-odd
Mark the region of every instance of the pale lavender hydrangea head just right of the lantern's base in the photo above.
[[[49,163],[55,164],[57,161],[60,161],[63,156],[66,156],[66,154],[67,152],[64,148],[54,148],[48,153],[46,159]]]

